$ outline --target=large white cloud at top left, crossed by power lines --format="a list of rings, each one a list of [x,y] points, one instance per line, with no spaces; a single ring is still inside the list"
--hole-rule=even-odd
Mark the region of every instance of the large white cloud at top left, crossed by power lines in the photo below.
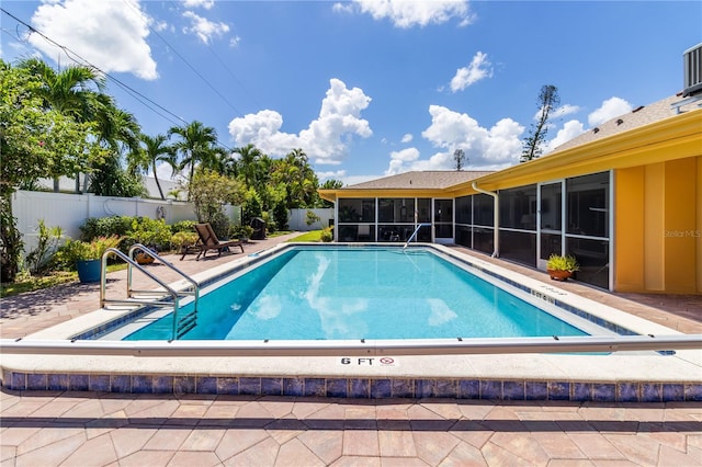
[[[152,80],[158,73],[146,42],[149,21],[137,0],[43,3],[32,16],[34,27],[101,70]],[[30,35],[30,43],[50,59],[60,53],[38,34]]]

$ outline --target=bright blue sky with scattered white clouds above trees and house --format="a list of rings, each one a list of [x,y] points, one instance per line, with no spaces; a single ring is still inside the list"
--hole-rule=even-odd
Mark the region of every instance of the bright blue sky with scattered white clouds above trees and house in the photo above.
[[[702,43],[700,0],[0,7],[3,60],[92,65],[144,133],[200,121],[230,149],[253,144],[280,158],[302,148],[320,182],[344,184],[453,170],[456,149],[464,170],[517,164],[551,84],[561,102],[547,153],[682,91],[682,54]]]

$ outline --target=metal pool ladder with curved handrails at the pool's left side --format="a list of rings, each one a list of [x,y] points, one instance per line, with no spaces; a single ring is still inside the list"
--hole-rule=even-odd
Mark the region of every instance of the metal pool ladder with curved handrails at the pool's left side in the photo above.
[[[147,271],[134,258],[135,252],[143,252],[148,254],[149,257],[158,260],[165,266],[171,269],[181,275],[190,285],[184,289],[174,289],[171,286],[167,285],[163,281],[158,278],[151,272]],[[107,284],[107,258],[113,254],[127,263],[127,298],[106,298],[105,287]],[[139,272],[144,273],[146,276],[151,278],[162,288],[160,289],[151,289],[151,291],[138,291],[132,287],[132,272],[133,269],[137,269]],[[170,296],[170,299],[169,299]],[[181,298],[184,297],[194,297],[193,310],[180,316],[180,301]],[[161,257],[159,257],[155,251],[148,249],[141,243],[135,243],[129,248],[128,254],[124,254],[122,251],[116,248],[109,248],[102,255],[102,267],[100,271],[100,307],[105,308],[105,305],[117,305],[117,306],[126,306],[126,307],[141,307],[141,306],[154,306],[161,308],[173,308],[173,328],[172,328],[172,340],[178,340],[182,338],[188,331],[193,329],[197,323],[197,301],[200,299],[200,284],[184,272],[176,267],[173,264],[169,263]]]

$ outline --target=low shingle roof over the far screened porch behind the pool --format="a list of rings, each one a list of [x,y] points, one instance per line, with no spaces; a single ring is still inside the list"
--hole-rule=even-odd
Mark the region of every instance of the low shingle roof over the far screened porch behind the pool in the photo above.
[[[384,176],[341,190],[442,190],[480,176],[491,171],[416,171]]]

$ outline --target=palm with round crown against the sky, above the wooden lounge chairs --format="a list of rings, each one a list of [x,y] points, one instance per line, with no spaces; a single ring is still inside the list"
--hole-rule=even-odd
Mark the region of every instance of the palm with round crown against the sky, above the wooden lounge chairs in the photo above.
[[[192,122],[189,125],[173,126],[168,130],[168,136],[178,135],[180,140],[172,146],[173,153],[181,155],[178,170],[190,168],[188,183],[193,180],[195,166],[203,160],[210,160],[217,144],[217,132],[211,126],[204,126],[201,122]],[[190,194],[188,195],[190,201]]]

